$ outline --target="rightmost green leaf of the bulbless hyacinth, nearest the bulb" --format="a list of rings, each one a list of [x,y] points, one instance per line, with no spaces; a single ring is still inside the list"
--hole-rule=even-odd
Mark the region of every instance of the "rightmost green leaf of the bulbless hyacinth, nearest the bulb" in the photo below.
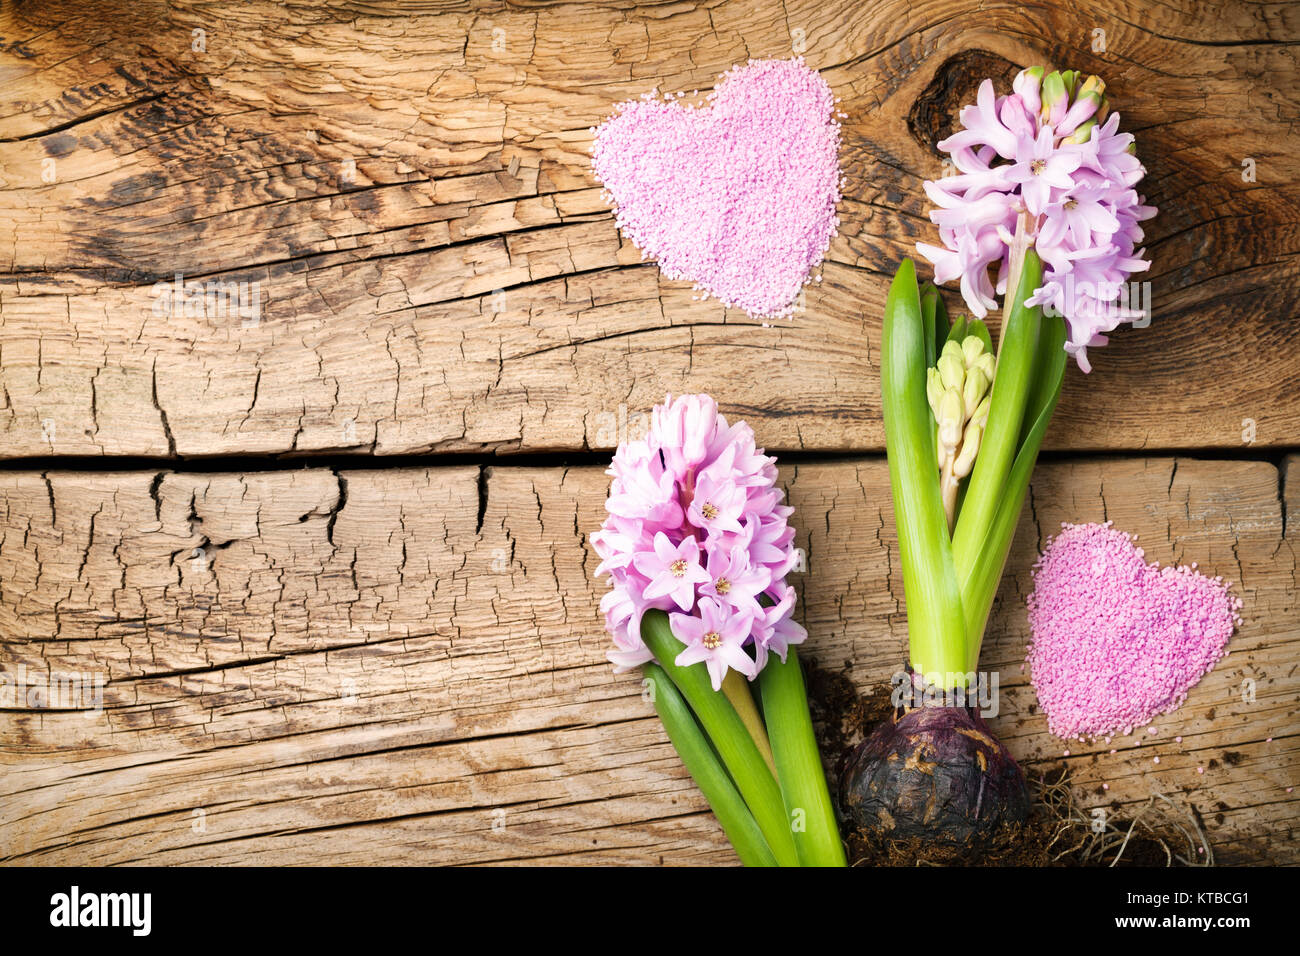
[[[794,648],[789,649],[784,662],[775,656],[768,658],[758,684],[785,813],[803,823],[802,829],[794,830],[800,862],[803,866],[846,866]]]

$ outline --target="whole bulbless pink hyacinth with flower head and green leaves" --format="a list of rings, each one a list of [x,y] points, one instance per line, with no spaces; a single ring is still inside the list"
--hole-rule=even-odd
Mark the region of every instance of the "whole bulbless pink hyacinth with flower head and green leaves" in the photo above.
[[[670,395],[608,475],[590,540],[612,585],[601,610],[615,670],[642,670],[744,862],[844,865],[794,650],[807,633],[776,460],[708,395]]]

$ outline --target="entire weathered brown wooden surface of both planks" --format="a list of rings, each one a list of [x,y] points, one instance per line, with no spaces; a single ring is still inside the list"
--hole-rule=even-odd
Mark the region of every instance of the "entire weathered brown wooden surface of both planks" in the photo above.
[[[1028,568],[1112,518],[1239,581],[1245,623],[1154,743],[1070,744],[1076,793],[1158,790],[1219,860],[1300,861],[1297,39],[1292,4],[1195,0],[4,3],[0,458],[51,464],[0,471],[0,676],[108,683],[90,717],[0,709],[0,862],[732,861],[603,661],[599,455],[491,453],[606,449],[684,390],[770,449],[879,453],[933,142],[971,78],[1032,62],[1101,73],[1139,135],[1156,319],[1070,373],[1048,445],[1117,454],[1036,476],[997,730],[1061,757],[1019,670]],[[763,328],[641,263],[586,151],[623,99],[792,52],[842,98],[845,200]],[[156,313],[177,273],[259,310]],[[1270,460],[1196,459],[1245,445]],[[1158,450],[1191,454],[1126,457]],[[246,458],[317,453],[356,466]],[[412,453],[460,457],[384,467]],[[73,458],[125,455],[159,462]],[[884,462],[783,476],[810,653],[868,687],[905,643]]]

